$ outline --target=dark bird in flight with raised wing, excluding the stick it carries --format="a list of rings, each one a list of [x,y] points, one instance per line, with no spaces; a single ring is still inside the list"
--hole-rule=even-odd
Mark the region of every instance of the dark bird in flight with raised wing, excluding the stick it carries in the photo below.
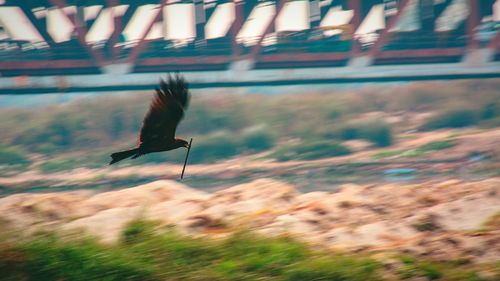
[[[188,83],[180,75],[160,80],[160,88],[151,102],[149,112],[142,122],[139,144],[136,148],[111,154],[110,165],[123,159],[135,159],[141,155],[169,151],[179,147],[189,148],[189,143],[175,138],[177,125],[184,116],[189,102]]]

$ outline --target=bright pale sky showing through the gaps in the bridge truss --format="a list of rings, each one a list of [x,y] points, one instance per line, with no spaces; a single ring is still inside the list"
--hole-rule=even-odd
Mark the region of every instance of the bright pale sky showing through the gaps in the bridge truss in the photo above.
[[[0,0],[0,4],[2,1],[3,0]],[[411,0],[410,6],[416,5],[416,2],[417,0]],[[443,16],[437,20],[438,30],[451,29],[454,24],[457,24],[467,17],[466,3],[467,0],[454,0],[454,5],[450,6],[447,11],[443,13]],[[85,17],[87,19],[94,18],[101,8],[100,6],[86,7]],[[87,34],[87,41],[94,42],[109,38],[113,29],[112,14],[123,14],[126,8],[127,6],[122,5],[115,7],[113,10],[109,8],[104,9],[96,19],[94,25],[90,27]],[[75,10],[75,7],[67,7],[64,9],[64,13],[74,13]],[[145,32],[145,27],[149,25],[157,12],[158,5],[141,6],[123,31],[127,40],[140,39]],[[168,5],[164,8],[163,13],[165,20],[163,23],[154,25],[148,34],[148,38],[164,37],[168,39],[183,39],[194,37],[194,5]],[[245,22],[241,32],[238,34],[239,39],[247,43],[253,41],[252,39],[263,33],[265,26],[271,20],[274,13],[275,7],[273,5],[261,4],[256,7],[252,11],[249,20]],[[340,7],[332,7],[322,19],[321,25],[332,26],[345,24],[349,22],[352,14],[352,11],[343,11]],[[495,4],[495,17],[497,20],[500,18],[499,15],[500,0],[496,1]],[[36,13],[36,16],[47,17],[49,33],[54,37],[56,42],[65,41],[69,38],[73,27],[64,16],[62,10],[51,9],[48,12],[39,11]],[[407,9],[407,12],[396,28],[400,30],[417,29],[418,24],[416,24],[416,17],[417,14],[415,9]],[[218,5],[212,17],[207,20],[205,27],[206,37],[216,38],[226,35],[233,20],[233,4],[226,3]],[[29,20],[21,13],[20,9],[16,7],[0,7],[0,24],[14,39],[30,41],[41,40],[41,36],[34,30]],[[384,26],[384,7],[383,5],[376,5],[368,13],[356,33],[365,34],[383,28]],[[308,1],[288,2],[276,21],[276,30],[278,31],[303,30],[308,27]],[[5,35],[3,36],[5,37]]]

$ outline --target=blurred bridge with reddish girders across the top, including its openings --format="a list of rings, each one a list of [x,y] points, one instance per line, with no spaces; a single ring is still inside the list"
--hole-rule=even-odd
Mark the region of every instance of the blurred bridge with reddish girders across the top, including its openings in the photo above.
[[[495,0],[0,0],[0,94],[500,77]]]

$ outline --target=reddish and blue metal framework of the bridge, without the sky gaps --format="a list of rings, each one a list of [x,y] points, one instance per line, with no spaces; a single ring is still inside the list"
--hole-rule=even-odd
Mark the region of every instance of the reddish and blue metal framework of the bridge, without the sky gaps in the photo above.
[[[9,36],[1,39],[0,93],[145,88],[155,83],[141,84],[145,74],[169,71],[192,73],[195,87],[279,85],[300,82],[301,78],[303,83],[330,83],[500,76],[500,32],[498,22],[492,19],[494,0],[463,0],[466,16],[446,31],[437,30],[436,22],[456,0],[310,0],[309,29],[276,32],[276,19],[290,1],[4,0],[0,7],[22,11],[43,40],[18,41]],[[229,31],[225,36],[206,39],[208,19],[218,7],[228,3],[234,11]],[[143,35],[134,41],[124,38],[123,31],[134,14],[151,4],[156,5],[154,19]],[[148,38],[155,24],[165,20],[161,11],[167,5],[178,4],[194,5],[195,37],[181,43]],[[265,24],[265,31],[253,38],[252,44],[245,44],[238,34],[257,5],[273,5],[275,12]],[[371,34],[375,39],[366,42],[356,31],[376,5],[384,5],[385,28],[375,31]],[[100,8],[89,16],[86,11],[92,6]],[[123,12],[113,13],[119,10],[117,7],[124,8]],[[343,25],[320,25],[332,7],[351,11],[352,17]],[[395,27],[411,9],[416,9],[420,27],[414,31],[397,30]],[[54,10],[67,18],[66,28],[73,35],[68,41],[56,42],[48,31],[46,15]],[[89,42],[88,31],[104,10],[111,13],[111,34],[102,42]],[[336,34],[325,36],[327,31]],[[481,36],[486,33],[489,36]],[[275,42],[266,44],[271,34]],[[435,67],[442,71],[436,73]],[[287,75],[279,72],[279,78],[270,78],[284,69],[289,71]],[[327,69],[330,75],[324,76],[321,69]],[[332,69],[338,69],[335,75],[331,74]],[[397,74],[403,69],[410,72],[406,78]],[[215,76],[203,74],[206,71]],[[245,74],[248,77],[238,77]],[[71,78],[72,75],[75,76]],[[122,83],[124,86],[120,87],[99,84],[97,79],[127,75],[137,82]],[[303,79],[304,75],[308,79]],[[79,84],[83,77],[95,78],[97,84]]]

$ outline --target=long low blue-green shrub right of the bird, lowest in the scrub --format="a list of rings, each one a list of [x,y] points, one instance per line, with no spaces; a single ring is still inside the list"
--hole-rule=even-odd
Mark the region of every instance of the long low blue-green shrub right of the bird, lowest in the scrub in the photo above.
[[[350,154],[351,151],[336,142],[312,141],[300,144],[286,145],[278,148],[270,157],[278,161],[313,160]]]

